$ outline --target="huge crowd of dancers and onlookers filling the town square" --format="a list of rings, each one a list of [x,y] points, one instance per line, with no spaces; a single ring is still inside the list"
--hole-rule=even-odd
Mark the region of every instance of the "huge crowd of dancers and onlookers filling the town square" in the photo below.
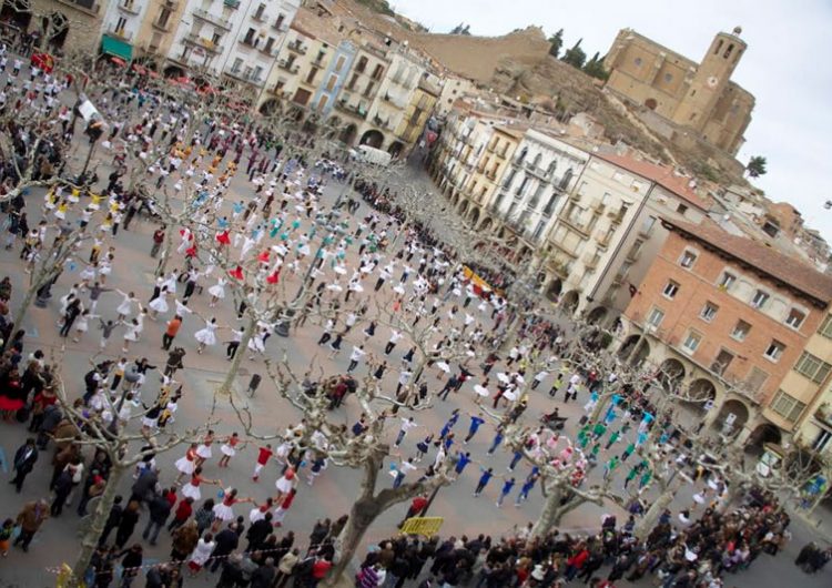
[[[0,103],[13,101],[42,120],[37,133],[26,123],[9,123],[14,153],[7,154],[0,175],[3,194],[11,195],[2,202],[6,249],[20,265],[13,280],[0,283],[0,410],[9,426],[18,423],[21,437],[10,484],[29,491],[27,477],[35,468],[51,468],[51,475],[49,500],[28,501],[4,520],[0,550],[8,551],[10,543],[29,550],[44,521],[65,516],[75,499],[81,533],[89,533],[94,505],[121,456],[84,439],[129,429],[143,438],[141,460],[131,472],[130,493],[121,491],[109,510],[84,571],[88,585],[104,588],[119,576],[129,587],[144,576],[146,586],[172,587],[211,572],[221,587],[290,581],[305,587],[323,580],[348,518],[318,520],[308,541],[285,529],[293,526],[292,509],[303,508],[300,484],[314,486],[329,466],[333,439],[324,432],[308,430],[298,418],[273,446],[205,428],[183,446],[175,472],[158,464],[160,438],[176,427],[179,406],[191,393],[181,377],[185,364],[205,355],[239,365],[237,354],[245,354],[251,365],[262,365],[275,355],[273,335],[287,318],[284,305],[271,301],[285,283],[304,294],[293,331],[311,334],[327,349],[323,376],[294,366],[304,373],[298,392],[325,394],[329,409],[342,412],[372,381],[389,392],[393,408],[362,414],[348,435],[362,438],[372,419],[397,424],[386,429],[394,448],[393,487],[447,468],[457,483],[468,478],[474,497],[490,495],[503,507],[514,496],[520,508],[555,468],[570,472],[574,488],[588,485],[591,475],[630,498],[626,524],[606,517],[601,533],[590,537],[556,531],[531,537],[528,529],[500,539],[397,537],[368,554],[356,586],[557,586],[575,578],[611,586],[625,576],[652,574],[668,588],[710,588],[762,551],[781,548],[788,517],[773,499],[727,510],[724,477],[702,467],[642,387],[619,385],[612,369],[600,373],[565,361],[570,349],[584,348],[575,347],[568,330],[552,317],[527,315],[532,303],[511,298],[508,270],[471,261],[466,271],[461,262],[468,260],[458,258],[423,222],[405,227],[395,190],[359,181],[356,194],[364,204],[349,194],[347,214],[333,214],[324,200],[327,186],[341,189],[347,181],[347,164],[333,154],[315,152],[314,142],[301,149],[296,138],[297,144],[286,141],[284,149],[284,136],[256,122],[194,110],[122,71],[102,73],[112,83],[88,92],[110,126],[101,136],[90,133],[101,151],[79,175],[69,153],[83,122],[65,104],[71,75],[11,59]],[[42,200],[33,186],[16,187],[32,180],[47,183]],[[136,225],[152,227],[148,264],[158,277],[142,291],[140,282],[135,290],[121,290],[123,235]],[[471,268],[491,286],[477,285]],[[13,323],[19,290],[33,281],[39,301],[57,303],[47,311],[57,345],[35,341]],[[246,333],[251,317],[255,328]],[[201,328],[189,338],[185,323]],[[145,345],[149,339],[152,346],[159,342],[161,353]],[[54,349],[73,346],[92,349],[83,378],[63,373],[53,359]],[[252,381],[251,392],[256,387]],[[574,437],[558,409],[541,425],[524,425],[534,394],[548,405],[586,403]],[[449,399],[457,407],[442,427],[417,423],[418,413],[408,410]],[[460,422],[467,422],[464,433]],[[511,437],[516,425],[521,433]],[[488,429],[487,452],[467,447]],[[511,457],[505,474],[495,472],[498,453]],[[240,454],[248,459],[244,474]],[[651,480],[672,472],[690,476],[694,505],[677,517],[664,513],[647,537],[637,538],[635,521],[645,513]],[[241,480],[258,483],[261,476],[275,481],[257,486],[257,496],[240,494]],[[493,489],[496,480],[499,490]],[[215,497],[203,497],[209,487]],[[425,507],[412,505],[409,514]],[[170,535],[162,564],[145,564],[148,547],[135,537],[141,526],[149,547]],[[816,566],[819,559],[809,554],[803,561]],[[611,571],[600,575],[606,565]]]

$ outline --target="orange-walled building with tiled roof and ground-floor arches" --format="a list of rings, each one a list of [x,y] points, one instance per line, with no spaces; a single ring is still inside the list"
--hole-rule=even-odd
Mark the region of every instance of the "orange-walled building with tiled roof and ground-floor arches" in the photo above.
[[[670,234],[622,316],[619,358],[684,391],[693,423],[781,443],[829,385],[832,277],[712,223],[661,223]]]

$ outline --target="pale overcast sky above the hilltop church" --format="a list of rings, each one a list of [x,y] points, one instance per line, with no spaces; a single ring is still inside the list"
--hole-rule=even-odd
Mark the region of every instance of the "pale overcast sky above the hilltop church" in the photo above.
[[[605,54],[619,29],[629,27],[700,61],[718,31],[742,27],[749,48],[732,80],[757,97],[748,140],[739,159],[765,155],[769,173],[758,185],[774,201],[800,210],[806,225],[832,244],[832,2],[830,0],[395,0],[395,9],[448,32],[460,22],[473,34],[499,36],[529,24],[547,34],[562,28],[565,45],[584,38],[591,57]],[[824,155],[825,153],[825,155]]]

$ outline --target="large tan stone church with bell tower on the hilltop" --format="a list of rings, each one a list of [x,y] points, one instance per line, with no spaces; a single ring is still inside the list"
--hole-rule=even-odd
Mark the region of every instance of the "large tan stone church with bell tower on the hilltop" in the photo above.
[[[682,141],[692,132],[735,155],[754,108],[754,97],[731,81],[747,49],[741,32],[738,27],[718,33],[697,63],[622,29],[603,62],[609,72],[606,89],[658,115],[661,121],[653,120],[658,124],[652,126],[671,139]]]

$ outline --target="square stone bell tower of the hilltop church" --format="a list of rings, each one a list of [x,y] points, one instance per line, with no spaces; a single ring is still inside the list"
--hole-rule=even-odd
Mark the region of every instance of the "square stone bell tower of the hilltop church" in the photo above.
[[[745,42],[737,27],[733,33],[720,32],[713,38],[696,73],[690,77],[688,95],[682,99],[673,113],[673,122],[699,132],[704,131],[711,119],[717,101],[731,81],[731,74],[745,52]]]

